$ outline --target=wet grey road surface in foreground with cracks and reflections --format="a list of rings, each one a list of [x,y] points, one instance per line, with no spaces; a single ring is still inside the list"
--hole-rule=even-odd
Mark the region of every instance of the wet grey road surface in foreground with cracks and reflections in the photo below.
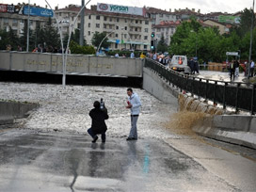
[[[160,139],[0,132],[0,191],[240,191]]]

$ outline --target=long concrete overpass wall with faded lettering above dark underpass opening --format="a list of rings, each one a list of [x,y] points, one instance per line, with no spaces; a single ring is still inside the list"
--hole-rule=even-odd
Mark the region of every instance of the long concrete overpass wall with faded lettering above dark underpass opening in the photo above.
[[[62,55],[0,51],[0,70],[62,72]],[[142,77],[143,60],[106,56],[69,55],[67,74]]]

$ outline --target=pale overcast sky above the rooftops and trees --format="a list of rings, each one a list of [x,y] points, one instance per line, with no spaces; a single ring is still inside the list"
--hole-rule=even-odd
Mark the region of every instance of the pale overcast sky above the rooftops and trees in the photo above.
[[[28,3],[29,0],[0,0],[2,4],[18,4],[18,3]],[[48,0],[48,3],[52,8],[58,6],[58,8],[65,8],[69,4],[81,5],[82,0]],[[87,3],[88,0],[85,0]],[[46,3],[44,0],[30,0],[30,4],[36,3],[41,7],[45,7]],[[195,8],[197,11],[200,9],[201,13],[209,12],[228,12],[234,13],[244,8],[252,8],[253,0],[91,0],[88,4],[97,5],[97,3],[106,3],[106,4],[115,4],[120,6],[129,6],[129,7],[139,7],[142,8],[152,7],[152,8],[161,8],[169,9],[173,11],[174,8]],[[89,8],[89,7],[87,7]]]

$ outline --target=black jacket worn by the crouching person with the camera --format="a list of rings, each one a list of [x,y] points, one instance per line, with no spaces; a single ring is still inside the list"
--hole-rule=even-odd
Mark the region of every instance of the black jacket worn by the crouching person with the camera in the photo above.
[[[91,129],[94,134],[102,134],[107,128],[104,120],[108,119],[107,110],[101,110],[100,108],[93,108],[89,111],[88,114],[92,120]]]

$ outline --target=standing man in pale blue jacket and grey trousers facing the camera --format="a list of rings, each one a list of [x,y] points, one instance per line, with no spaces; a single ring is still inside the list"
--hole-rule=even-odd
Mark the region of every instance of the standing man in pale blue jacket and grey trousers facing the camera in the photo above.
[[[140,99],[136,92],[133,92],[132,88],[127,88],[128,101],[126,108],[130,108],[131,110],[131,130],[130,134],[126,140],[136,140],[137,132],[136,132],[136,121],[138,119],[138,115],[140,112]]]

